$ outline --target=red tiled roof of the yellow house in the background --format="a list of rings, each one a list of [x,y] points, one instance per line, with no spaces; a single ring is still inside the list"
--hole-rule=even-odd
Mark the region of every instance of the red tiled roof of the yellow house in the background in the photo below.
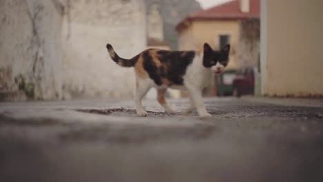
[[[213,8],[200,10],[189,14],[183,21],[179,22],[176,30],[186,28],[190,21],[206,20],[206,21],[226,21],[239,19],[259,19],[260,17],[260,0],[249,0],[249,12],[242,12],[240,9],[240,0],[233,0]]]

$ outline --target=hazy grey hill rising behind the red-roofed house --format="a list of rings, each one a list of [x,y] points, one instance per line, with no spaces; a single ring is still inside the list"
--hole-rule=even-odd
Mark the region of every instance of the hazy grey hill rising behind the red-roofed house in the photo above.
[[[164,21],[164,39],[170,43],[173,50],[177,49],[177,33],[175,26],[191,12],[201,10],[201,6],[195,0],[145,0],[147,13],[154,4]]]

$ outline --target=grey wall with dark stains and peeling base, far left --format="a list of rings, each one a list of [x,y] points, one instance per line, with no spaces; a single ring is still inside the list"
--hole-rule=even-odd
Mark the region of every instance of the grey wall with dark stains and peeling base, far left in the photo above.
[[[0,0],[0,91],[24,81],[31,98],[61,98],[62,14],[55,0]]]

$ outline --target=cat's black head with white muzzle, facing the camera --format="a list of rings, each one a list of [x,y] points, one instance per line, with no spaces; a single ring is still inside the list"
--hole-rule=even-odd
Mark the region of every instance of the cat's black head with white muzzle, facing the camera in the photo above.
[[[230,44],[225,45],[221,50],[213,50],[208,43],[204,43],[203,65],[211,68],[215,73],[220,74],[228,65]]]

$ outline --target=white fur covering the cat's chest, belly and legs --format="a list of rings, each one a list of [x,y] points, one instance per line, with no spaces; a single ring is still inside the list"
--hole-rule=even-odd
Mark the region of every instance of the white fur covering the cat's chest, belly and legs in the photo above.
[[[191,112],[194,108],[196,108],[199,113],[199,117],[209,118],[211,114],[206,111],[204,101],[202,99],[202,90],[210,83],[212,77],[211,68],[205,68],[203,65],[203,54],[195,55],[193,59],[193,63],[188,65],[186,70],[186,74],[184,75],[184,85],[173,85],[170,88],[178,89],[178,90],[187,90],[190,98],[190,106],[186,110],[186,113]],[[215,65],[217,66],[217,65]],[[155,82],[150,79],[141,79],[137,78],[137,87],[135,91],[135,105],[137,114],[139,116],[146,116],[147,113],[144,111],[141,105],[141,99],[144,97],[146,92],[151,87],[155,87],[157,89],[166,89],[166,85],[155,85]],[[168,113],[174,113],[173,109],[171,109],[166,103],[161,104],[161,106]]]

